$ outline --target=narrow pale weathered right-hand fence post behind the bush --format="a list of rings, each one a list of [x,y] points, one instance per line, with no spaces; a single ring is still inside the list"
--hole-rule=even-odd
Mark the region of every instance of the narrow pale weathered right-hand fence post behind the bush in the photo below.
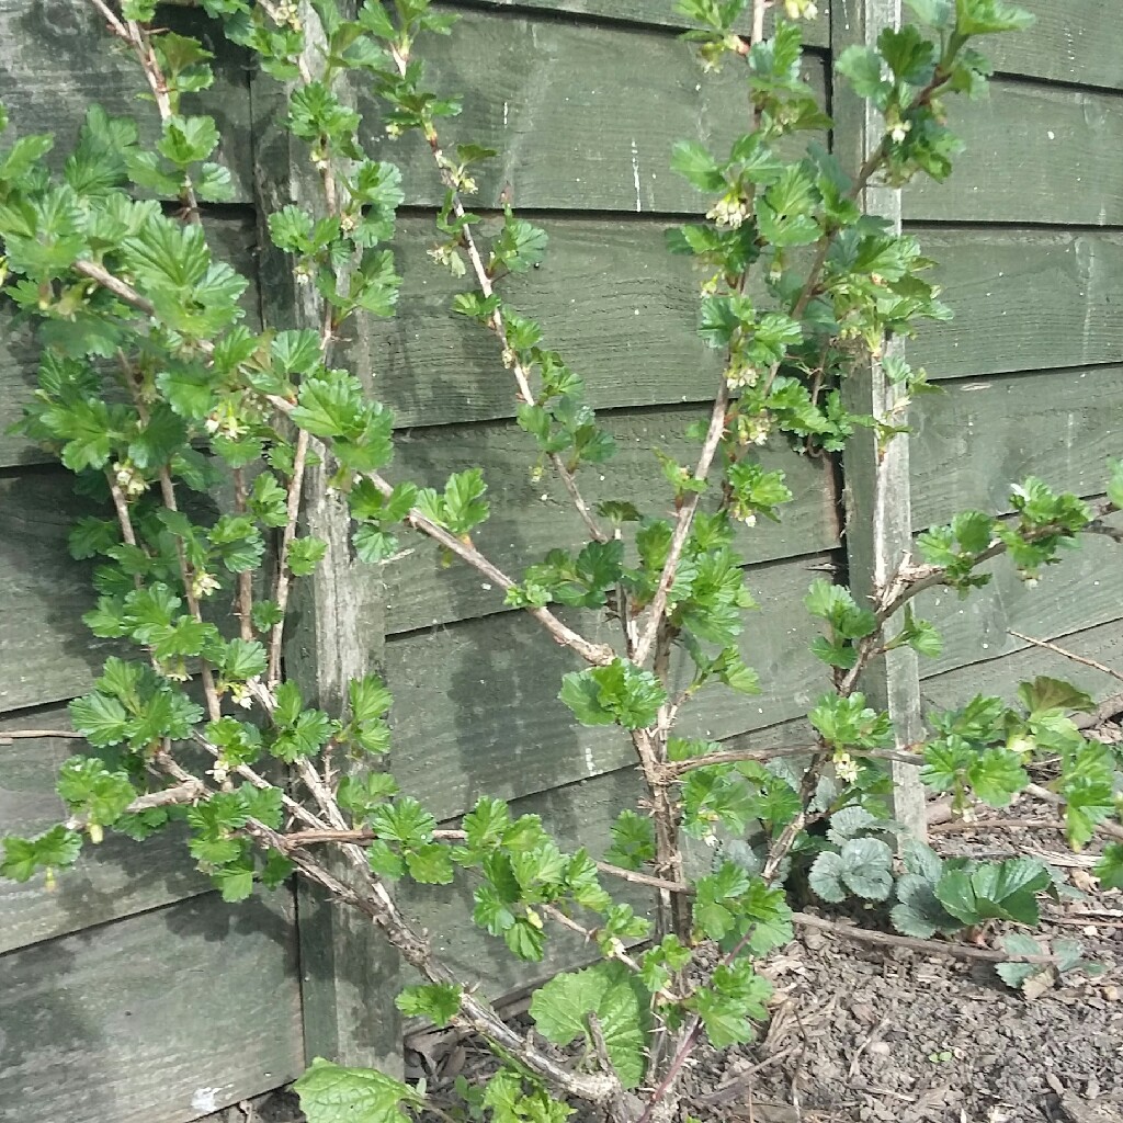
[[[885,27],[901,24],[901,0],[831,0],[831,58],[852,44],[875,46]],[[880,144],[884,120],[867,101],[834,79],[832,116],[834,154],[855,174]],[[859,200],[868,213],[901,229],[901,192],[870,185]],[[886,354],[900,355],[900,339],[886,344]],[[870,360],[849,380],[848,407],[857,413],[884,417],[896,404],[897,391],[882,364]],[[850,587],[859,603],[883,586],[912,548],[912,503],[909,482],[909,438],[898,436],[882,453],[877,437],[860,429],[842,459],[846,496],[846,542]],[[862,676],[862,690],[875,706],[888,710],[897,747],[920,740],[923,731],[916,652],[909,647],[889,651]],[[920,838],[925,833],[924,789],[917,769],[894,761],[893,812]]]

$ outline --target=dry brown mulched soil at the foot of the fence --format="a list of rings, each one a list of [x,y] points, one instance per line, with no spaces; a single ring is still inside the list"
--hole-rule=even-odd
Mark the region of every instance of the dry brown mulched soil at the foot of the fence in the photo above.
[[[1123,740],[1115,725],[1102,736]],[[1050,814],[1016,804],[1002,819],[1035,825],[994,830],[983,819],[938,828],[932,842],[946,855],[1037,853],[1060,868],[1079,895],[1048,904],[1034,937],[1079,940],[1102,974],[1049,976],[1023,993],[992,964],[800,928],[768,965],[776,997],[763,1037],[724,1053],[703,1048],[686,1069],[690,1113],[706,1123],[1123,1123],[1123,893],[1098,892],[1094,857],[1070,853],[1059,831],[1041,827]],[[994,947],[999,934],[984,933]],[[492,1068],[472,1041],[421,1048],[436,1061],[433,1092],[457,1072],[471,1080]],[[283,1093],[258,1111],[213,1120],[302,1120]]]

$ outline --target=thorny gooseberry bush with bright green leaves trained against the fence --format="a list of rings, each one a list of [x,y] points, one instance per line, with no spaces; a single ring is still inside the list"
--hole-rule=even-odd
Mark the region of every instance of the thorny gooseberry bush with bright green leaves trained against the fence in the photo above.
[[[884,456],[902,439],[909,402],[930,389],[886,344],[950,313],[916,238],[866,213],[866,191],[950,174],[960,141],[946,102],[985,92],[977,38],[1024,29],[1026,13],[1003,0],[909,0],[915,24],[842,53],[840,77],[884,120],[865,162],[847,168],[815,139],[831,120],[802,76],[801,26],[815,6],[785,0],[766,35],[763,0],[681,0],[704,69],[742,74],[745,131],[728,150],[683,140],[670,154],[712,200],[704,220],[667,240],[697,265],[700,332],[722,372],[712,408],[685,433],[693,463],[652,449],[645,510],[586,502],[583,473],[611,475],[613,440],[549,346],[549,326],[505,295],[508,277],[544,263],[546,232],[506,204],[489,236],[467,209],[478,165],[495,154],[447,139],[459,102],[427,86],[418,53],[428,37],[455,34],[453,16],[428,0],[364,0],[346,12],[337,0],[200,0],[276,80],[302,162],[291,199],[259,200],[296,296],[289,319],[253,330],[238,303],[249,280],[208,245],[208,204],[231,197],[212,158],[218,126],[190,108],[212,82],[211,55],[161,27],[154,0],[90,2],[144,73],[157,138],[144,144],[135,120],[91,107],[61,164],[46,159],[51,136],[9,144],[0,276],[42,341],[19,430],[57,453],[98,512],[74,526],[70,548],[97,563],[86,626],[120,647],[71,704],[88,749],[58,778],[69,818],[37,838],[7,838],[6,876],[53,878],[106,831],[144,839],[177,822],[228,901],[292,875],[317,883],[420,976],[398,997],[402,1012],[493,1048],[497,1072],[464,1087],[451,1111],[496,1123],[553,1123],[578,1107],[615,1123],[677,1117],[688,1106],[679,1076],[700,1042],[748,1041],[767,1016],[759,968],[792,939],[794,871],[827,902],[885,902],[916,938],[1037,920],[1048,870],[1020,857],[941,862],[889,818],[888,768],[921,766],[965,814],[975,801],[1008,804],[1030,784],[1028,766],[1048,758],[1051,793],[1083,847],[1117,810],[1115,759],[1072,719],[1092,700],[1039,678],[1016,706],[978,697],[929,715],[926,739],[902,743],[861,686],[895,649],[938,654],[937,629],[913,612],[924,590],[967,594],[999,556],[1037,581],[1078,536],[1112,532],[1104,519],[1123,505],[1120,469],[1098,508],[1022,482],[1012,515],[971,511],[929,530],[919,557],[903,558],[868,599],[815,581],[805,604],[822,622],[814,654],[824,681],[807,743],[727,750],[676,732],[679,715],[704,704],[703,687],[760,690],[736,542],[746,527],[767,532],[792,495],[758,449],[786,441],[829,456],[865,430]],[[375,107],[376,125],[359,103]],[[360,140],[378,129],[423,138],[445,186],[430,256],[462,287],[450,313],[492,337],[528,471],[560,482],[585,530],[584,542],[528,559],[518,576],[475,545],[489,518],[482,471],[465,464],[440,487],[394,474],[391,411],[345,365],[348,334],[366,317],[392,317],[399,290],[401,174]],[[804,155],[780,155],[777,145],[789,150],[798,134],[812,137]],[[871,367],[893,387],[885,416],[847,404],[847,380]],[[562,701],[582,725],[630,740],[642,785],[603,860],[566,852],[538,816],[513,816],[497,798],[438,824],[424,793],[400,791],[384,767],[393,700],[374,668],[349,682],[335,712],[289,673],[293,585],[339,560],[302,521],[326,493],[345,503],[350,545],[340,541],[364,563],[398,564],[403,539],[427,537],[445,562],[478,570],[502,596],[496,606],[526,612],[568,650]],[[577,630],[570,609],[612,621],[615,642]],[[711,847],[699,876],[684,860],[687,837]],[[1097,874],[1123,884],[1123,847],[1107,848]],[[513,956],[540,960],[560,930],[595,949],[592,966],[535,993],[529,1035],[441,962],[393,894],[402,879],[457,878],[474,886],[474,922]],[[621,882],[652,892],[650,917],[614,897],[609,886]],[[1013,951],[1022,976],[1042,959]],[[312,1123],[404,1120],[426,1106],[423,1087],[322,1058],[298,1087]]]

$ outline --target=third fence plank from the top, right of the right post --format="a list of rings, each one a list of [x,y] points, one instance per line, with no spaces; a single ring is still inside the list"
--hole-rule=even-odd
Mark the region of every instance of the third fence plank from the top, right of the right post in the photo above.
[[[1123,235],[973,228],[917,237],[956,313],[907,346],[933,378],[1123,362]]]

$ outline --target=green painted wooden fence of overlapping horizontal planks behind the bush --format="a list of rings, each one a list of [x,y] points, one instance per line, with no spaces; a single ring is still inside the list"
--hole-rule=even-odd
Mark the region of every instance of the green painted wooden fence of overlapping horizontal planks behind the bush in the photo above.
[[[814,84],[830,82],[832,43],[851,42],[894,2],[821,3],[829,10],[810,30],[807,56]],[[1029,473],[1095,495],[1106,457],[1123,451],[1123,25],[1117,0],[1022,2],[1037,28],[996,40],[990,100],[955,109],[967,141],[955,177],[903,200],[904,222],[941,263],[957,312],[952,327],[925,331],[909,353],[947,391],[924,398],[914,417],[901,501],[911,501],[915,531],[968,505],[1005,510],[1010,483]],[[496,207],[510,184],[517,207],[537,211],[549,231],[547,265],[513,282],[513,299],[541,316],[608,411],[621,454],[604,494],[640,499],[651,478],[646,449],[674,447],[718,373],[695,334],[690,265],[663,246],[664,228],[702,204],[669,172],[669,149],[687,137],[720,146],[742,127],[733,70],[702,75],[676,38],[673,7],[464,0],[456,33],[428,49],[436,83],[465,95],[456,137],[502,154],[478,206]],[[191,11],[171,10],[168,20],[206,29]],[[0,0],[0,100],[17,131],[56,130],[64,150],[90,102],[135,111],[138,74],[100,35],[76,0]],[[238,198],[209,226],[221,254],[255,276],[254,165],[271,80],[227,48],[218,54],[217,88],[201,101],[222,127]],[[852,147],[856,128],[840,116],[836,146]],[[436,481],[483,465],[494,514],[480,545],[517,570],[559,537],[579,540],[579,527],[556,489],[528,480],[492,341],[448,314],[449,283],[424,259],[440,194],[431,162],[420,144],[372,143],[402,163],[414,209],[399,238],[400,314],[372,327],[360,359],[408,430],[403,471]],[[247,298],[250,322],[259,295]],[[35,369],[30,337],[4,309],[0,356],[2,430]],[[743,542],[763,605],[748,645],[765,693],[696,705],[688,721],[714,739],[791,736],[784,724],[823,682],[800,603],[812,570],[843,560],[847,542],[869,546],[866,526],[842,536],[840,489],[859,489],[860,471],[843,478],[838,465],[766,456],[788,472],[795,501],[779,530],[747,532]],[[591,490],[602,490],[595,477]],[[861,496],[851,499],[861,510]],[[66,701],[90,686],[106,654],[80,621],[89,570],[65,549],[81,506],[65,472],[0,436],[0,737],[64,729]],[[503,796],[596,851],[633,791],[629,746],[573,723],[556,700],[565,652],[532,622],[503,611],[473,572],[444,570],[427,545],[412,545],[385,587],[371,586],[381,626],[357,637],[396,697],[400,782],[445,818],[483,793]],[[1104,693],[1103,676],[1060,665],[1008,629],[1063,636],[1078,652],[1123,665],[1121,573],[1108,544],[1090,542],[1035,591],[1002,572],[966,602],[931,594],[924,611],[946,649],[921,668],[923,699],[1010,692],[1043,670]],[[0,741],[0,833],[57,821],[53,779],[71,749]],[[526,982],[465,923],[464,896],[435,889],[412,905],[453,964],[482,973],[491,993]],[[311,902],[298,907],[287,891],[223,904],[171,837],[107,841],[55,892],[0,882],[0,1104],[21,1123],[179,1123],[291,1079],[305,1050],[331,1051],[335,1041],[354,1054],[364,1032],[378,1033],[393,967],[356,962],[354,933],[316,917]],[[559,947],[554,967],[575,953]],[[384,1047],[395,1031],[381,1032]]]

